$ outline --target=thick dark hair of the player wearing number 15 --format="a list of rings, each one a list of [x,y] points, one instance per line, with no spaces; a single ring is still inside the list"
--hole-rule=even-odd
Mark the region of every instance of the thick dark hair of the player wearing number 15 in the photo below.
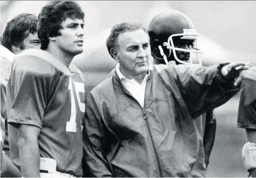
[[[50,1],[39,14],[37,35],[41,41],[41,49],[46,50],[49,37],[61,35],[60,25],[66,18],[84,20],[84,12],[74,1]]]

